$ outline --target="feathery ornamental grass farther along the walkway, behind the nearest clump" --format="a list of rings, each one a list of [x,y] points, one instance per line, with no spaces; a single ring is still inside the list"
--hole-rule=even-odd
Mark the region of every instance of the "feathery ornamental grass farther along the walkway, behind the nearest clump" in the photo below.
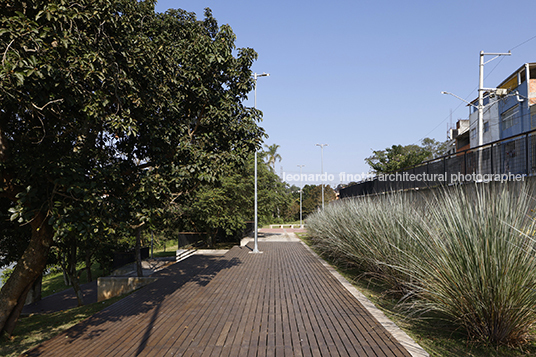
[[[407,254],[422,247],[413,234],[422,231],[422,217],[413,198],[385,195],[343,200],[309,216],[307,229],[316,248],[345,259],[362,271],[404,290]],[[415,253],[417,254],[417,253]]]

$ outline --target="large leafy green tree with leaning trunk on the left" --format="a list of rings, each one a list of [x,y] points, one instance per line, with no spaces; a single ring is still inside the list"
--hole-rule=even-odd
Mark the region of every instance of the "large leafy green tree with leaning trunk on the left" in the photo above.
[[[155,13],[154,1],[4,1],[0,195],[31,233],[0,291],[0,331],[51,246],[139,228],[259,146],[260,112],[242,104],[256,53],[234,40],[209,10],[197,20]]]

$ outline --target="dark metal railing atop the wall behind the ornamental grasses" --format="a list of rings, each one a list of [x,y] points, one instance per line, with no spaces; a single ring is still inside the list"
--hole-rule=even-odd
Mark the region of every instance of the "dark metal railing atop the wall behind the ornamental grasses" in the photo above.
[[[518,180],[536,173],[536,130],[378,174],[340,190],[339,197],[363,196],[452,185],[459,182]]]

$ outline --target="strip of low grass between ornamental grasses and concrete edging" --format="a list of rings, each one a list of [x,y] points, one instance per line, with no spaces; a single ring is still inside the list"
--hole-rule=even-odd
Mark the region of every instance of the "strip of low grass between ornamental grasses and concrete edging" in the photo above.
[[[295,234],[305,243],[309,244],[307,233]],[[454,329],[451,324],[441,320],[437,316],[428,316],[426,319],[412,319],[404,316],[397,308],[398,298],[386,293],[386,289],[381,282],[370,277],[364,277],[360,271],[342,262],[330,260],[328,257],[323,258],[372,301],[376,307],[382,310],[387,317],[393,320],[398,327],[421,345],[430,356],[536,356],[536,330],[533,332],[533,340],[517,348],[508,346],[497,348],[495,346],[483,346],[476,342],[468,341],[463,331]]]

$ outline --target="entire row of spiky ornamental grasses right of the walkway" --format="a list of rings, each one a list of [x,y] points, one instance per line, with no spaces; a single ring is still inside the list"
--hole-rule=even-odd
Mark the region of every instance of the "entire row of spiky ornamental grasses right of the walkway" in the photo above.
[[[489,184],[344,200],[310,216],[308,230],[325,254],[400,291],[411,314],[434,311],[473,340],[520,344],[536,323],[533,194]]]

